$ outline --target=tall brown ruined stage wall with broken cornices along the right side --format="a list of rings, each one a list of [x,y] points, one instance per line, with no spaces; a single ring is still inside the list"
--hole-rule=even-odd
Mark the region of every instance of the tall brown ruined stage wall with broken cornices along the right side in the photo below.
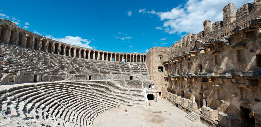
[[[204,30],[188,33],[168,50],[168,92],[195,101],[223,126],[261,126],[260,0],[235,11],[223,9],[223,21],[203,22]],[[213,111],[212,111],[213,110]],[[254,119],[247,120],[244,110]],[[219,112],[217,114],[217,112]],[[251,114],[252,113],[252,114]]]

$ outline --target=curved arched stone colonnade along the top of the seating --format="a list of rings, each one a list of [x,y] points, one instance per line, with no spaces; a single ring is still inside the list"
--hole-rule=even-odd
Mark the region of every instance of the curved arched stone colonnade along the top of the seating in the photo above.
[[[43,52],[54,53],[64,56],[72,56],[77,58],[106,60],[106,61],[123,61],[123,62],[145,62],[146,54],[124,54],[110,53],[105,51],[96,51],[92,49],[84,49],[81,47],[66,46],[63,43],[59,44],[56,41],[48,40],[42,36],[34,36],[26,30],[18,30],[15,27],[9,27],[12,24],[0,22],[0,40],[21,47],[40,50]],[[13,25],[14,26],[14,25]],[[31,34],[30,34],[31,33]]]

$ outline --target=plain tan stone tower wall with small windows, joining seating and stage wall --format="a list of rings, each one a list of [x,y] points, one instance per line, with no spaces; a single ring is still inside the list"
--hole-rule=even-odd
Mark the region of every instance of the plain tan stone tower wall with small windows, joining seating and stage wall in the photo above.
[[[166,77],[168,66],[165,66],[163,61],[168,59],[168,49],[169,47],[152,47],[147,53],[147,67],[151,76],[151,80],[153,80],[155,87],[158,88],[158,91],[163,93],[167,91],[168,82],[165,81],[164,77]],[[159,60],[159,56],[162,57]],[[163,72],[159,72],[158,67],[163,67]]]

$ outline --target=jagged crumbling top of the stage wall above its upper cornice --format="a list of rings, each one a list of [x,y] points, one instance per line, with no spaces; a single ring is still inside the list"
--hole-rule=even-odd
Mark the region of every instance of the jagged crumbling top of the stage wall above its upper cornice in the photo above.
[[[255,0],[253,3],[246,3],[237,11],[235,5],[229,3],[223,8],[223,21],[216,21],[212,24],[211,21],[205,20],[203,22],[203,31],[198,34],[188,33],[187,36],[181,38],[173,46],[173,51],[169,56],[181,55],[183,51],[191,51],[195,40],[208,42],[209,39],[220,39],[224,36],[233,34],[233,29],[237,26],[242,28],[248,27],[250,21],[255,18],[260,18],[261,0]],[[190,42],[190,43],[189,43]]]

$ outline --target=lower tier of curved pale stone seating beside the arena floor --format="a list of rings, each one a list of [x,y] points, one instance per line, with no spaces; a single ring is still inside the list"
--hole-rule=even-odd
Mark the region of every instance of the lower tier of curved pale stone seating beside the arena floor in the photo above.
[[[92,126],[117,106],[146,104],[152,80],[56,81],[0,86],[0,125]]]

